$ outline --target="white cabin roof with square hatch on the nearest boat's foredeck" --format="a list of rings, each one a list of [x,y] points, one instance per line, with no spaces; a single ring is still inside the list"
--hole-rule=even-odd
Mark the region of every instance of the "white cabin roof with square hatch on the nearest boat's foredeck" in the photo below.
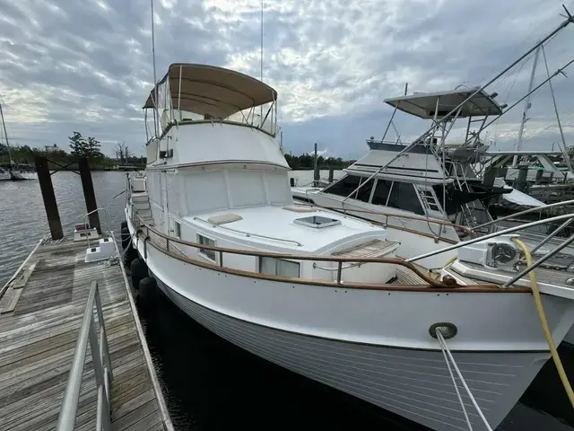
[[[206,223],[209,217],[219,216],[224,212],[226,211],[204,213],[185,217],[184,220],[201,228],[202,231],[212,231],[219,237],[222,235],[237,237],[243,242],[254,243],[256,248],[285,252],[328,251],[344,242],[383,240],[386,237],[384,229],[343,215],[325,211],[301,214],[283,209],[283,207],[273,206],[233,208],[232,213],[241,216],[241,220],[224,226],[212,226]],[[308,216],[326,216],[340,220],[341,224],[316,229],[294,223],[295,219]],[[263,236],[273,239],[265,239]]]

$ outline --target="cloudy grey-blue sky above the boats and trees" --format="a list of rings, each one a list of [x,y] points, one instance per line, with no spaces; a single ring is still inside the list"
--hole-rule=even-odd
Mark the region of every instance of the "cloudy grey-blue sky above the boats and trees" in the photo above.
[[[485,83],[562,20],[554,0],[265,0],[264,81],[279,92],[283,145],[313,142],[358,157],[382,136],[386,97]],[[574,13],[574,4],[567,5]],[[260,0],[155,0],[158,78],[172,62],[226,66],[259,76]],[[117,141],[143,154],[141,106],[152,88],[149,0],[0,0],[0,101],[16,145],[67,146],[73,130],[104,153]],[[574,57],[574,25],[545,53],[551,74]],[[542,58],[542,57],[541,57]],[[532,57],[491,91],[511,104],[527,87]],[[572,66],[574,74],[574,66]],[[567,69],[568,72],[568,69]],[[544,59],[536,81],[546,77]],[[554,82],[569,145],[574,84]],[[489,130],[516,142],[522,105]],[[559,140],[547,89],[532,99],[525,147]],[[427,125],[396,116],[403,136]],[[394,137],[394,136],[389,136]]]

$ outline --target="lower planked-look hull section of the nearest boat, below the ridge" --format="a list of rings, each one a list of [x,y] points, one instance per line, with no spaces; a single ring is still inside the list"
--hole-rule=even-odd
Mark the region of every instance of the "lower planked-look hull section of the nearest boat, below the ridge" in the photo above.
[[[179,309],[252,354],[426,427],[467,429],[441,351],[353,344],[274,330],[214,312],[157,279]],[[536,352],[456,352],[454,356],[492,426],[506,417],[548,358]],[[465,395],[463,399],[473,429],[486,429],[470,399]]]

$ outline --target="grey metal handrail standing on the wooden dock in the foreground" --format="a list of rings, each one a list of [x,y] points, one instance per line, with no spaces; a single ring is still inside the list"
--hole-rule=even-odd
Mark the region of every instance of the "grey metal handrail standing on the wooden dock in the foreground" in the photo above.
[[[95,328],[93,306],[96,305],[98,322],[100,324],[100,342]],[[104,325],[103,312],[101,309],[100,290],[98,282],[92,281],[88,302],[83,312],[80,335],[75,347],[74,360],[65,385],[64,400],[57,418],[57,431],[73,431],[75,426],[78,403],[80,401],[80,389],[82,387],[83,369],[85,367],[86,350],[90,342],[91,360],[96,374],[98,388],[98,410],[96,416],[96,429],[105,431],[111,429],[110,415],[110,391],[109,383],[113,379],[111,360],[109,357],[108,339]]]

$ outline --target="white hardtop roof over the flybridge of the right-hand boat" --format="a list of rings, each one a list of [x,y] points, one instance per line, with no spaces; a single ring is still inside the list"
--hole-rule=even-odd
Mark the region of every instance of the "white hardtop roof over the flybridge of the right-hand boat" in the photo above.
[[[407,114],[414,115],[421,119],[433,119],[439,101],[437,117],[440,119],[451,110],[465,101],[479,87],[451,90],[448,92],[415,92],[414,94],[385,99],[385,102],[397,110],[402,110]],[[496,94],[487,94],[483,90],[474,94],[465,101],[458,118],[483,117],[491,115],[501,115],[503,107],[494,100]],[[453,114],[453,117],[455,114]]]

